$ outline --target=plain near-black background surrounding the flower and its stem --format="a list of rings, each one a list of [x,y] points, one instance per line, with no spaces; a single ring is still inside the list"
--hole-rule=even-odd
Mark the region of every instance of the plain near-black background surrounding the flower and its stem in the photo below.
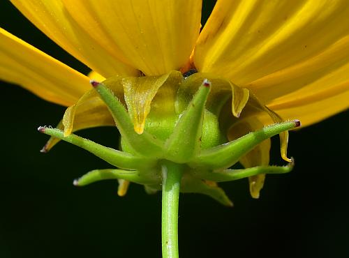
[[[1,1],[0,12],[4,29],[89,71],[8,1]],[[36,128],[54,126],[65,108],[0,83],[0,257],[161,257],[161,194],[147,195],[133,184],[126,197],[117,197],[114,181],[75,188],[73,179],[109,166],[66,143],[39,153],[47,136]],[[349,257],[348,132],[348,112],[291,132],[296,167],[267,176],[258,200],[249,197],[247,180],[222,184],[234,208],[181,195],[181,257]],[[80,135],[108,146],[118,142],[115,128]],[[278,141],[272,163],[281,162]]]

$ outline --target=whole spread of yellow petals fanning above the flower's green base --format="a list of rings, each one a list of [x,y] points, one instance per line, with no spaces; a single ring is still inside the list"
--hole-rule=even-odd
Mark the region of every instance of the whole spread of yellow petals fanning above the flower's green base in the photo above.
[[[300,119],[303,126],[349,107],[346,0],[218,0],[201,32],[200,0],[11,2],[89,66],[95,79],[164,75],[195,67],[248,89],[283,119]],[[0,79],[53,103],[73,105],[66,114],[70,120],[64,121],[67,134],[113,124],[97,100],[77,111],[84,101],[79,98],[90,89],[89,77],[3,29]],[[269,116],[259,112],[242,116],[235,126],[237,135],[230,137],[269,123]],[[245,167],[268,163],[268,150],[266,141],[251,153],[253,158],[241,161]]]

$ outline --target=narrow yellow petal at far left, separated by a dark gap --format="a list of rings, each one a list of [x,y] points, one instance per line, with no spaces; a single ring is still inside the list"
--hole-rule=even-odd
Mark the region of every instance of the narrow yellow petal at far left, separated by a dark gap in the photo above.
[[[0,79],[19,84],[45,100],[72,105],[89,78],[0,28]]]

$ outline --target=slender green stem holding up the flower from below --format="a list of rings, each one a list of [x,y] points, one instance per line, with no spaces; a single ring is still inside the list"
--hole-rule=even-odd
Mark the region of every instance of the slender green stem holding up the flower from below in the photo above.
[[[178,258],[178,203],[183,166],[163,162],[162,248],[163,258]]]

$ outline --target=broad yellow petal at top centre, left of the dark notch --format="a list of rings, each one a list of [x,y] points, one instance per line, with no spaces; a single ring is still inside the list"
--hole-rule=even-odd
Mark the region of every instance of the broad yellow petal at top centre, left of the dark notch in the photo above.
[[[163,75],[186,64],[200,31],[201,2],[64,1],[80,26],[145,75]]]

